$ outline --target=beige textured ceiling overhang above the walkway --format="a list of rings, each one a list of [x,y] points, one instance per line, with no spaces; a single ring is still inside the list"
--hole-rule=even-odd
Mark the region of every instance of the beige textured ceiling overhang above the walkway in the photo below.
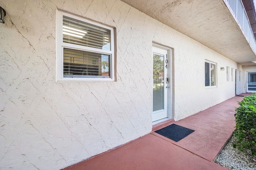
[[[254,51],[223,0],[122,1],[241,65],[256,65]]]

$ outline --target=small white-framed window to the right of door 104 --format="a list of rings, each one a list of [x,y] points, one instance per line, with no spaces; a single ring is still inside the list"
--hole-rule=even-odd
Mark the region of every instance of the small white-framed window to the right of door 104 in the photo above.
[[[205,61],[204,71],[205,86],[216,86],[216,64],[209,61]]]

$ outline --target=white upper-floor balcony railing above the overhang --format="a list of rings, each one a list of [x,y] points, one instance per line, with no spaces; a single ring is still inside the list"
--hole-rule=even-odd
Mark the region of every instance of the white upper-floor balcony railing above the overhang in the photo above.
[[[238,25],[240,26],[244,36],[249,42],[254,53],[256,52],[256,42],[252,32],[252,28],[244,9],[244,5],[241,0],[224,0],[225,4],[229,8],[231,14],[236,19]]]

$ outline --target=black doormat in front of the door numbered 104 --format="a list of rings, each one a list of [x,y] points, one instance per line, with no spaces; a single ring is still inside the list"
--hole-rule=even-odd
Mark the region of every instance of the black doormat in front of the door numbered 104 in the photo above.
[[[163,135],[164,137],[168,137],[169,139],[172,139],[175,142],[178,142],[180,141],[180,139],[183,139],[190,133],[194,132],[194,130],[176,124],[171,124],[155,132],[160,135]]]

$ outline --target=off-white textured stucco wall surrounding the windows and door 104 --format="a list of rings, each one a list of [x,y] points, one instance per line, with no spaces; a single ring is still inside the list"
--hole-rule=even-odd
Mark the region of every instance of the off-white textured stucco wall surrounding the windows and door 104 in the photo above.
[[[118,0],[4,0],[0,23],[0,169],[60,169],[152,129],[152,41],[174,49],[174,114],[234,96],[238,65]],[[116,27],[116,82],[56,82],[56,11]],[[205,59],[217,87],[204,87]]]

